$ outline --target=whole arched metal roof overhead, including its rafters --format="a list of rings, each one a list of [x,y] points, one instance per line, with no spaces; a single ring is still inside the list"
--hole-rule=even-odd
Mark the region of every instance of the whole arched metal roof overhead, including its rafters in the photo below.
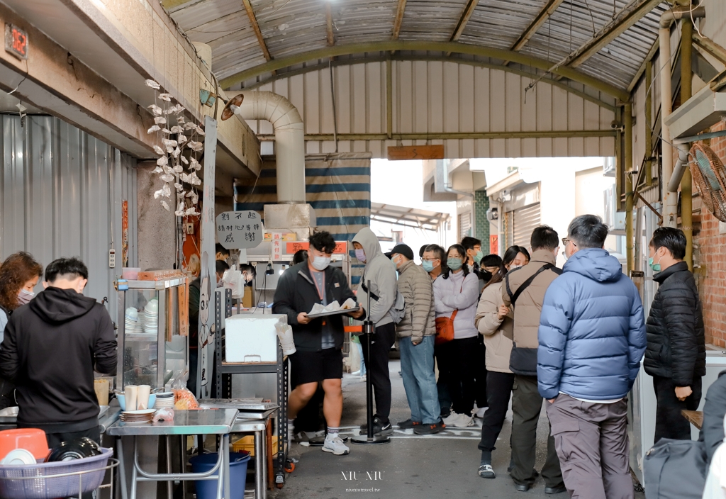
[[[477,59],[623,99],[658,36],[661,0],[163,0],[209,44],[225,88],[326,57]],[[627,99],[627,97],[626,97]]]

